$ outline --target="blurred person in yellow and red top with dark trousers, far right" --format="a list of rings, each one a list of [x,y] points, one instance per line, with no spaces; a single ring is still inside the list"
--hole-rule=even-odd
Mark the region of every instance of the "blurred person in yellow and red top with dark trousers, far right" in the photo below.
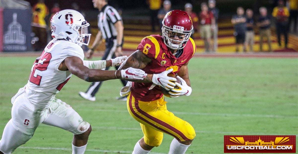
[[[290,16],[289,10],[284,6],[284,1],[279,0],[278,6],[274,7],[272,16],[276,18],[276,34],[278,45],[281,47],[280,33],[285,37],[285,48],[288,47],[288,17]]]

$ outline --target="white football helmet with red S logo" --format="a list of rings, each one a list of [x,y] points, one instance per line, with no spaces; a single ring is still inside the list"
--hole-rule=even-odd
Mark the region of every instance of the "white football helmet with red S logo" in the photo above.
[[[52,38],[66,39],[80,46],[88,45],[91,36],[88,33],[89,25],[84,16],[76,10],[59,11],[51,19]]]

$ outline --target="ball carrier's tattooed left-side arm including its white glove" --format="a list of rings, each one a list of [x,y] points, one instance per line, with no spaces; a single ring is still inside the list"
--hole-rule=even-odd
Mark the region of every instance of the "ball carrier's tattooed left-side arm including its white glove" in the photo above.
[[[136,50],[133,54],[131,54],[119,67],[120,70],[127,69],[129,67],[143,69],[145,68],[150,62],[151,58],[147,57],[143,54],[142,51]],[[172,81],[177,81],[176,78],[168,77],[167,74],[172,72],[173,69],[166,70],[160,74],[148,74],[146,78],[143,80],[128,80],[133,82],[153,82],[156,85],[159,85],[166,90],[173,89],[176,84]]]

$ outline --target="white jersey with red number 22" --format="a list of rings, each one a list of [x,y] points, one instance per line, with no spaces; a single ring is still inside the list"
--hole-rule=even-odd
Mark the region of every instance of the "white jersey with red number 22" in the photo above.
[[[35,60],[25,89],[28,100],[35,107],[49,107],[50,102],[55,100],[55,94],[72,76],[69,70],[58,70],[61,62],[70,56],[79,57],[83,61],[83,49],[69,41],[52,40]]]

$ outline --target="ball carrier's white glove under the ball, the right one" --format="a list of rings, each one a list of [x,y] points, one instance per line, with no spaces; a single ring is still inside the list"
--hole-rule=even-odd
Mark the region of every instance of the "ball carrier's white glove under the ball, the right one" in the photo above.
[[[172,89],[169,92],[170,97],[190,96],[192,91],[191,87],[188,86],[180,76],[177,76],[177,78],[179,78],[179,80],[181,81],[181,84],[176,82],[176,86],[179,87],[179,89],[176,89],[176,88]]]

